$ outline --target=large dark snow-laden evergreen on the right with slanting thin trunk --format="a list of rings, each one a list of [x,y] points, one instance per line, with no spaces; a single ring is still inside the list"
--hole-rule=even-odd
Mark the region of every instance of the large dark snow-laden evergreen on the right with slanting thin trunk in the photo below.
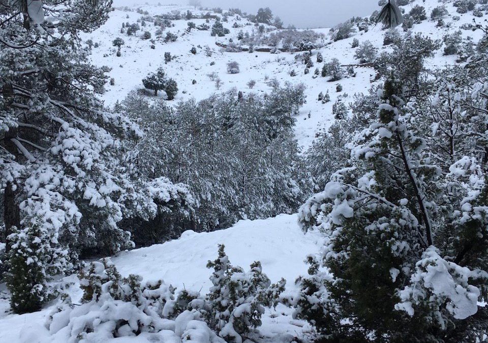
[[[303,228],[323,230],[326,242],[322,262],[309,258],[309,275],[297,280],[301,291],[285,302],[328,339],[483,339],[484,153],[463,156],[463,141],[474,136],[448,136],[449,130],[479,127],[474,123],[485,115],[486,85],[478,82],[466,98],[440,84],[432,115],[443,122],[432,127],[445,136],[426,141],[413,131],[425,130],[417,127],[423,119],[411,114],[415,104],[404,102],[402,83],[390,74],[376,120],[350,144],[349,163],[301,207]],[[463,99],[476,99],[468,108],[477,115],[459,115]],[[449,158],[453,143],[456,155]]]

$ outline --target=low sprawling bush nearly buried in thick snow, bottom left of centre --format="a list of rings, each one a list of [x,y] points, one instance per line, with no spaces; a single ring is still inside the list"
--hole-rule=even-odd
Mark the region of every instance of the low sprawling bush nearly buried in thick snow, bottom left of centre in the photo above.
[[[53,339],[75,343],[80,340],[108,340],[116,337],[164,341],[224,343],[203,322],[190,303],[203,302],[198,295],[181,292],[159,282],[141,284],[141,278],[122,278],[108,260],[92,262],[80,272],[83,303],[73,306],[69,297],[50,314],[47,322]]]

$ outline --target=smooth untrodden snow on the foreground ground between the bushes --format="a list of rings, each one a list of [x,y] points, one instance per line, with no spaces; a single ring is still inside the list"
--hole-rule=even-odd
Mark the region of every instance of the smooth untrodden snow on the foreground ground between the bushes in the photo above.
[[[221,231],[186,231],[177,240],[122,252],[112,261],[123,276],[133,273],[141,275],[144,280],[164,279],[165,283],[178,289],[185,287],[188,290],[201,290],[204,294],[210,286],[208,277],[211,274],[205,265],[208,260],[215,260],[217,245],[223,243],[233,265],[248,269],[253,261],[261,261],[263,271],[271,281],[276,282],[284,277],[287,280],[287,292],[292,292],[295,278],[307,272],[303,260],[308,254],[319,251],[321,241],[319,233],[303,234],[298,228],[296,215],[282,214],[266,220],[240,221]],[[65,280],[74,283],[68,293],[77,302],[81,297],[77,278],[69,276]],[[53,305],[37,313],[21,316],[0,313],[0,342],[51,341],[43,324]],[[1,309],[8,309],[6,299],[0,300]],[[297,335],[303,330],[310,330],[301,321],[290,322],[290,314],[291,309],[282,305],[276,311],[268,310],[263,317],[261,334],[271,338],[278,333]],[[114,341],[120,342],[119,339]]]

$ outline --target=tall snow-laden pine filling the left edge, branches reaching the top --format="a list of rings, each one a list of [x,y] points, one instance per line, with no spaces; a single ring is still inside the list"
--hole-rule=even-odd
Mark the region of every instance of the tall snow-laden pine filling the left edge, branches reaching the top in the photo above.
[[[103,107],[98,95],[107,68],[91,65],[79,44],[81,32],[107,20],[111,4],[47,2],[40,11],[29,11],[29,5],[0,12],[0,185],[10,236],[4,241],[10,250],[26,236],[38,237],[39,251],[19,250],[10,257],[13,264],[40,264],[46,278],[54,272],[51,265],[57,271],[69,266],[56,262],[58,257],[76,260],[77,254],[133,246],[130,232],[117,223],[136,215],[147,220],[158,208],[148,180],[130,168],[134,161],[121,162],[128,140],[140,139],[142,132]],[[43,11],[49,13],[45,20]],[[32,259],[23,261],[28,254]],[[10,269],[12,280],[23,272]]]

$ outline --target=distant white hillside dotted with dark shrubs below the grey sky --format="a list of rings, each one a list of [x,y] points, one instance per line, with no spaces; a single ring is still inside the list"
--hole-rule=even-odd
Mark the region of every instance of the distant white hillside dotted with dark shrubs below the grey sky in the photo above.
[[[429,17],[432,9],[441,4],[437,0],[415,1],[403,8],[408,13],[415,5],[425,7],[425,12]],[[415,24],[412,32],[420,32],[433,39],[442,40],[445,34],[453,33],[459,30],[463,24],[472,22],[473,16],[471,13],[456,13],[456,8],[451,3],[447,3],[445,6],[449,15],[444,19],[447,23],[444,27],[437,27],[437,20],[429,19]],[[322,67],[322,64],[315,62],[316,54],[320,52],[325,62],[332,58],[338,58],[343,65],[357,65],[359,61],[354,58],[355,49],[351,48],[351,43],[354,39],[358,39],[360,43],[365,40],[371,41],[379,49],[379,53],[390,49],[389,46],[383,46],[384,31],[381,30],[380,25],[371,27],[368,32],[356,32],[350,38],[337,42],[333,42],[327,35],[329,28],[314,29],[315,32],[326,35],[324,39],[325,46],[312,51],[312,60],[315,65],[311,68],[309,74],[304,74],[305,66],[295,60],[297,53],[225,52],[220,46],[216,45],[216,43],[227,45],[231,40],[237,42],[237,34],[241,30],[244,33],[257,33],[258,28],[246,18],[234,20],[233,17],[229,17],[228,22],[223,22],[224,27],[230,31],[230,34],[225,37],[210,36],[211,25],[215,22],[214,19],[209,20],[209,23],[207,23],[210,26],[209,30],[192,29],[190,33],[186,32],[189,21],[194,22],[198,26],[205,23],[205,19],[173,20],[172,22],[175,26],[166,28],[162,37],[164,38],[167,32],[174,33],[179,37],[175,42],[165,43],[162,38],[156,38],[158,27],[150,22],[147,22],[146,26],[142,26],[135,36],[121,34],[120,28],[123,23],[135,23],[137,19],[144,16],[137,13],[134,9],[132,10],[115,9],[106,24],[94,33],[86,35],[86,39],[92,39],[94,43],[99,43],[99,47],[92,50],[94,63],[98,66],[112,68],[108,74],[114,78],[115,85],[106,85],[108,91],[103,96],[103,99],[107,105],[113,105],[117,100],[122,100],[131,90],[143,88],[142,78],[149,72],[156,71],[161,66],[178,83],[179,92],[173,104],[189,98],[195,98],[197,101],[202,100],[211,95],[211,93],[229,90],[234,87],[243,92],[269,91],[270,86],[267,81],[275,77],[282,84],[286,81],[292,83],[303,82],[307,86],[306,95],[308,99],[297,116],[295,132],[299,144],[305,147],[311,144],[318,130],[329,127],[333,122],[332,104],[335,100],[341,96],[345,103],[351,102],[354,93],[366,92],[371,87],[375,76],[375,71],[370,66],[356,67],[356,77],[344,78],[337,82],[327,82],[328,78],[320,76],[314,78],[314,69]],[[207,13],[207,11],[195,11],[193,7],[164,4],[161,6],[143,5],[140,10],[153,16],[174,10],[182,13],[190,10],[194,15]],[[216,13],[212,12],[212,15],[216,15]],[[452,20],[452,17],[455,16],[459,16],[459,20]],[[233,27],[234,22],[237,22],[239,27]],[[152,45],[150,40],[139,38],[145,30],[149,31],[151,37],[155,39],[154,49],[150,47]],[[398,30],[402,35],[405,34],[402,28],[398,28]],[[471,36],[474,42],[477,42],[481,35],[481,32],[473,33],[463,30],[463,37]],[[112,41],[117,37],[125,40],[125,45],[121,48],[120,57],[116,56],[116,48],[112,46]],[[196,54],[190,52],[192,47],[196,47]],[[255,48],[259,47],[256,46]],[[455,63],[455,56],[444,56],[442,50],[442,48],[438,50],[434,58],[426,61],[426,67],[434,68]],[[170,52],[176,57],[167,65],[165,65],[164,61],[165,52]],[[227,73],[227,63],[233,60],[240,65],[239,74]],[[215,64],[211,65],[211,63]],[[294,77],[290,76],[292,70],[297,74]],[[219,90],[216,89],[215,82],[207,76],[214,72],[222,79],[222,87]],[[192,84],[193,80],[196,80],[197,83]],[[250,80],[256,81],[253,89],[249,89],[246,85]],[[343,86],[343,91],[340,93],[335,91],[338,83]],[[326,104],[318,102],[317,96],[319,93],[327,91],[330,94],[331,101]],[[345,93],[347,94],[345,95]]]

